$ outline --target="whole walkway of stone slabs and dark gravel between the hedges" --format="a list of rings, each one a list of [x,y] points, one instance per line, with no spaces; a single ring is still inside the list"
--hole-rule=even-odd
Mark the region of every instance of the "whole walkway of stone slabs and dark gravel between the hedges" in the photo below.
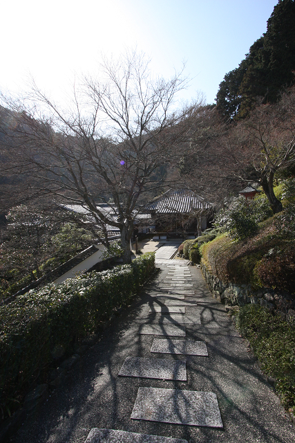
[[[278,397],[200,270],[159,255],[157,264],[157,278],[12,442],[294,441]]]

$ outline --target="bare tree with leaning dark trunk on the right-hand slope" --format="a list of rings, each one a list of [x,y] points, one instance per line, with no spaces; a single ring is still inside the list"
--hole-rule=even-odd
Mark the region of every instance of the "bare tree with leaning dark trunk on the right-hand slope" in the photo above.
[[[275,105],[260,105],[228,138],[236,177],[260,183],[274,214],[283,210],[274,194],[278,172],[295,162],[295,89]]]

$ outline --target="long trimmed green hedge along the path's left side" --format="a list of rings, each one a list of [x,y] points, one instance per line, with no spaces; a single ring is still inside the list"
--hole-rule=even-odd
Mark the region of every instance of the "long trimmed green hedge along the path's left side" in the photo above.
[[[39,374],[52,367],[56,350],[73,352],[79,339],[129,302],[154,269],[155,254],[146,253],[111,271],[32,289],[0,307],[1,409],[21,401]]]

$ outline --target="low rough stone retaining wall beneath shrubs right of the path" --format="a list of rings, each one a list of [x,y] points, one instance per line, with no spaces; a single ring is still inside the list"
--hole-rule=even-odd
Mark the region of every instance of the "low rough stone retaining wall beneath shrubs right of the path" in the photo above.
[[[258,291],[251,288],[250,284],[224,283],[207,269],[204,262],[200,268],[202,275],[212,293],[212,296],[223,305],[244,306],[249,303],[267,307],[276,311],[285,320],[295,320],[295,299],[287,292],[278,292],[274,289],[260,288]]]

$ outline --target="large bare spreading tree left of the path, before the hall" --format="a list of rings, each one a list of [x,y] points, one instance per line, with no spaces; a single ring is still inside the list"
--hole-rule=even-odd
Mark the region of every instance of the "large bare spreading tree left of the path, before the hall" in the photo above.
[[[106,246],[108,226],[119,228],[127,263],[134,211],[144,192],[165,185],[159,168],[180,157],[198,105],[176,110],[186,80],[176,74],[153,79],[149,62],[136,53],[104,62],[102,77],[85,78],[67,111],[34,84],[30,100],[10,102],[17,130],[6,146],[36,190],[41,183],[57,201],[83,204]],[[109,199],[113,213],[97,206]]]

